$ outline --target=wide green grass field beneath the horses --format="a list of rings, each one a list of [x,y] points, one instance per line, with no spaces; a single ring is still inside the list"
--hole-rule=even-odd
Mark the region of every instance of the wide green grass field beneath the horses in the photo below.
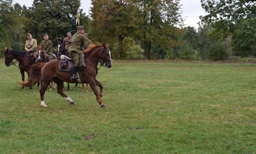
[[[113,61],[101,68],[100,107],[71,84],[76,106],[39,87],[21,90],[0,59],[0,153],[255,153],[251,63]],[[66,86],[67,84],[65,84]]]

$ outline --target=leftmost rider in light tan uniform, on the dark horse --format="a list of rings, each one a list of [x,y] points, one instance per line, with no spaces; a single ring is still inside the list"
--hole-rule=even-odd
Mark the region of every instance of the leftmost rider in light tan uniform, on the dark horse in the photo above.
[[[28,40],[25,42],[25,51],[32,53],[33,56],[33,61],[36,61],[36,56],[37,56],[37,52],[36,52],[36,47],[37,47],[37,43],[36,43],[36,39],[32,38],[31,33],[27,34]]]

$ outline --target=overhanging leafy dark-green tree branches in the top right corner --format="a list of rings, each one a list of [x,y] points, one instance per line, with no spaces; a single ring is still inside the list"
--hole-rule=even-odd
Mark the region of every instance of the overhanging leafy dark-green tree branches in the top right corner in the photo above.
[[[235,50],[242,52],[242,55],[253,50],[250,44],[256,43],[256,1],[201,0],[201,5],[206,13],[209,13],[204,17],[201,16],[201,20],[212,24],[213,28],[223,32],[225,36],[232,34]],[[240,26],[241,24],[243,26]],[[248,36],[247,32],[251,34]],[[235,39],[239,37],[243,40]],[[253,37],[253,40],[247,40],[248,37]]]

